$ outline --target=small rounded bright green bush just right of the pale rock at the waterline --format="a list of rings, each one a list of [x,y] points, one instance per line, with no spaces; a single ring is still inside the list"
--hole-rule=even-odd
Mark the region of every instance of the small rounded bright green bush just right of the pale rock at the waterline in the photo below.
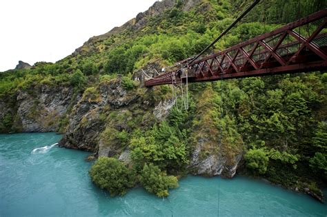
[[[244,155],[246,167],[252,170],[254,174],[265,174],[268,167],[269,158],[264,149],[250,149]]]

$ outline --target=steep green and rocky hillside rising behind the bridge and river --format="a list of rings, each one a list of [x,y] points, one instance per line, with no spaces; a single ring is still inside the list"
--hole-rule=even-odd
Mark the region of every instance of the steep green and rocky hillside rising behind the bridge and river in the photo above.
[[[0,132],[56,131],[60,146],[119,158],[136,173],[154,165],[175,176],[231,178],[238,169],[321,199],[326,73],[195,83],[188,110],[169,85],[142,87],[142,70],[152,75],[199,53],[250,2],[157,1],[57,63],[1,73]],[[326,8],[295,3],[259,4],[208,52],[293,21],[297,8],[306,8],[301,16]]]

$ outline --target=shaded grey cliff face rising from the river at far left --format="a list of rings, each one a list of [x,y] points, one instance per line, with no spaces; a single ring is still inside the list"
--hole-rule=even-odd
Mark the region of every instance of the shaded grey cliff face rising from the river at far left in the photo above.
[[[70,105],[75,103],[71,87],[43,85],[0,98],[2,132],[53,132]]]

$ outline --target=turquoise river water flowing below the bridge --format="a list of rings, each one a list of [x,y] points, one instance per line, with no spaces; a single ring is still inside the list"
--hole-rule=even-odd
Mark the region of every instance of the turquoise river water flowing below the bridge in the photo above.
[[[110,198],[92,185],[88,153],[54,133],[0,135],[0,216],[327,216],[312,198],[236,177],[188,176],[168,198],[140,187]]]

